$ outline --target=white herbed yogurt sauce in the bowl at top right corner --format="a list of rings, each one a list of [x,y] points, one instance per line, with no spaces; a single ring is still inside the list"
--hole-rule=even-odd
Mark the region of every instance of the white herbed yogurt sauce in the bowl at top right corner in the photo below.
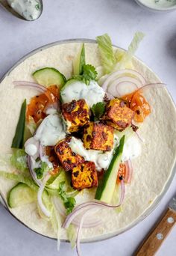
[[[176,4],[176,0],[140,0],[142,4],[148,5],[149,7],[167,8],[172,7]]]

